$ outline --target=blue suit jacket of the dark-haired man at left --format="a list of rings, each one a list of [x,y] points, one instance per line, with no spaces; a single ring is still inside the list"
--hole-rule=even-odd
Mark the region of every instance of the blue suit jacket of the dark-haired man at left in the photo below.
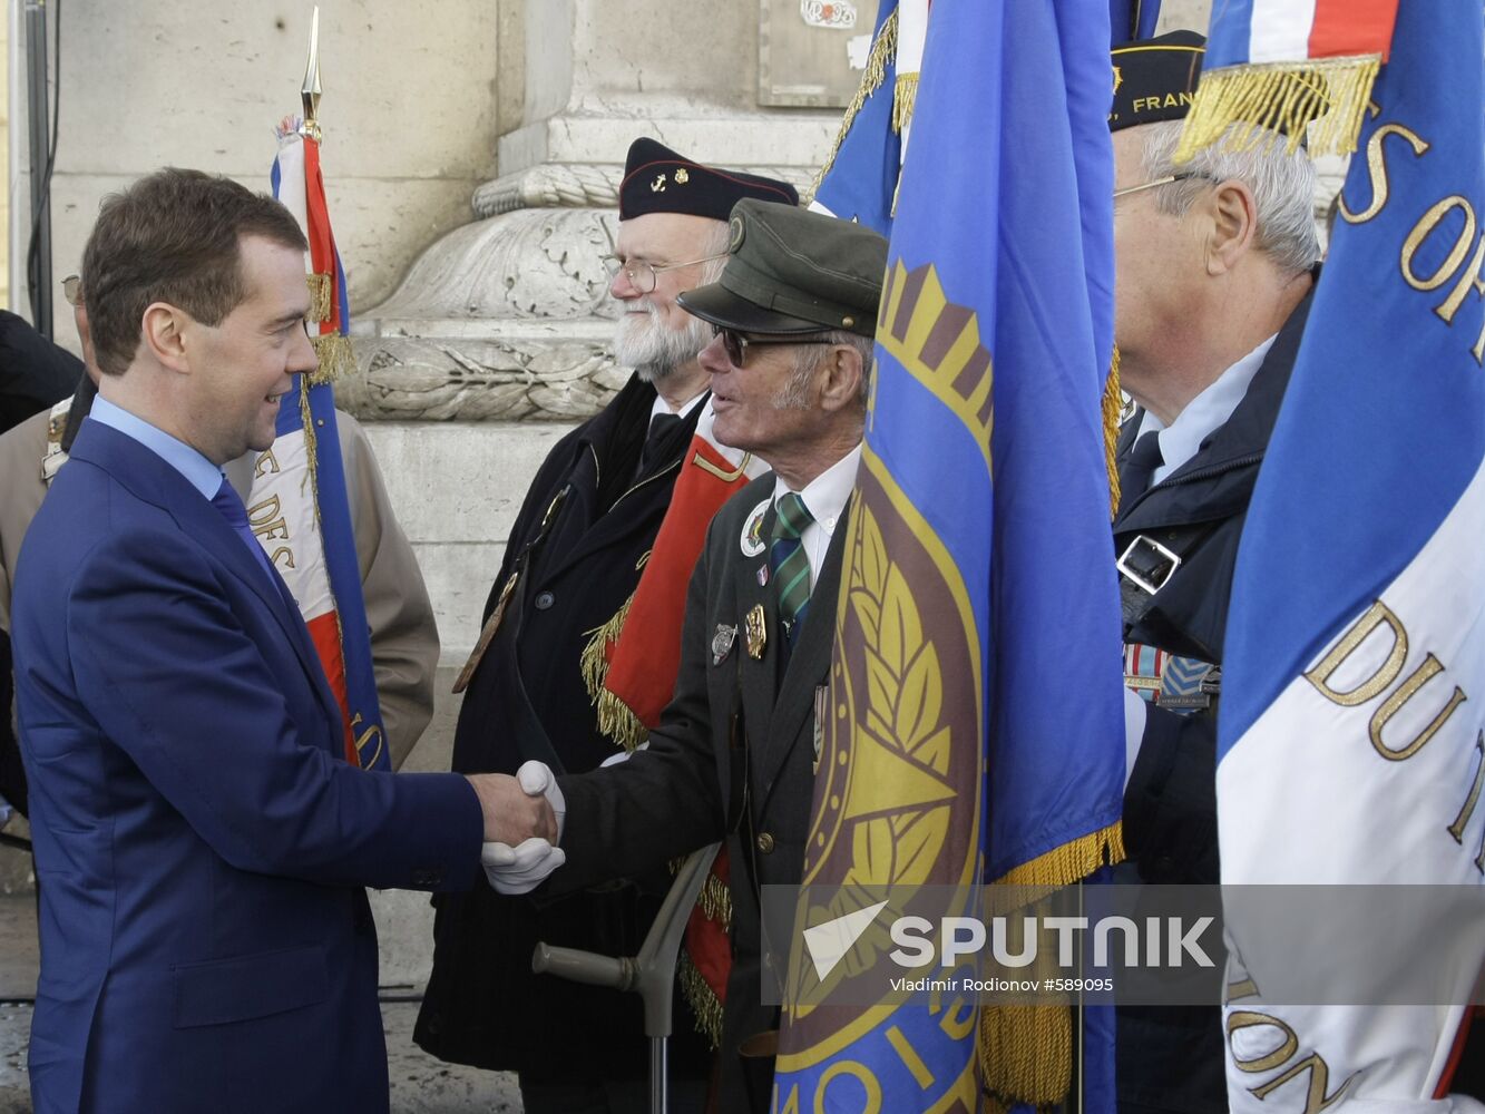
[[[282,584],[94,420],[25,538],[13,649],[36,1110],[386,1110],[362,887],[475,881],[469,784],[346,765]]]

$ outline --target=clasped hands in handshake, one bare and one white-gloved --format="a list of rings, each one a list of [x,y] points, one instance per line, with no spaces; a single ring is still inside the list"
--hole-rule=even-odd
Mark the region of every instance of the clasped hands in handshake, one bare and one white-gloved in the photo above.
[[[526,762],[515,777],[469,777],[484,812],[484,850],[480,861],[490,885],[502,894],[524,894],[567,861],[557,847],[567,802],[545,762]]]

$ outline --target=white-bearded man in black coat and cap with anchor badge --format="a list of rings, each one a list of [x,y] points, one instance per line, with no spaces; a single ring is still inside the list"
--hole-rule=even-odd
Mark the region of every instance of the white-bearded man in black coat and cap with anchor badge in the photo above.
[[[598,729],[582,658],[639,584],[707,404],[698,356],[711,327],[676,299],[722,272],[742,198],[799,202],[787,183],[704,166],[655,140],[630,147],[607,263],[622,309],[613,354],[634,374],[557,443],[527,492],[460,677],[454,769],[515,772],[535,758],[578,774],[624,753]],[[446,1061],[517,1071],[527,1114],[647,1110],[640,1000],[538,977],[530,957],[538,940],[634,954],[667,881],[655,894],[615,885],[541,909],[484,885],[440,899],[414,1040]],[[693,1028],[676,1026],[671,1066],[699,1081],[710,1056]],[[685,1105],[683,1083],[676,1095]]]

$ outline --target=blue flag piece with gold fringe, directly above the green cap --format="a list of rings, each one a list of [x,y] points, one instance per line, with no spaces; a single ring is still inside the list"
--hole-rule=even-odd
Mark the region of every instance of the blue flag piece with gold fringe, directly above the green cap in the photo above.
[[[857,110],[814,198],[817,206],[884,236],[892,229],[892,198],[903,160],[903,138],[892,129],[897,58],[894,49],[884,49],[882,40],[882,30],[895,13],[897,0],[882,0],[872,31],[873,49],[882,51],[881,83]]]

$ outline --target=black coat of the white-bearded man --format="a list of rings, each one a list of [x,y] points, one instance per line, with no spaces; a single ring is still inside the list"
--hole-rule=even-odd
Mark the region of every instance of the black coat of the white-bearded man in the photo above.
[[[661,435],[637,475],[655,388],[637,377],[552,449],[527,492],[486,603],[486,619],[520,572],[499,631],[465,692],[454,734],[459,772],[514,774],[529,758],[561,772],[621,753],[598,731],[579,658],[597,627],[639,584],[642,557],[670,506],[701,405]],[[667,823],[662,812],[649,823]],[[633,885],[573,894],[538,911],[483,881],[435,902],[434,970],[414,1040],[432,1055],[515,1069],[527,1081],[643,1078],[647,1046],[637,995],[532,974],[538,940],[633,955],[655,916]],[[685,1017],[676,1023],[677,1071],[705,1074],[707,1052]]]

